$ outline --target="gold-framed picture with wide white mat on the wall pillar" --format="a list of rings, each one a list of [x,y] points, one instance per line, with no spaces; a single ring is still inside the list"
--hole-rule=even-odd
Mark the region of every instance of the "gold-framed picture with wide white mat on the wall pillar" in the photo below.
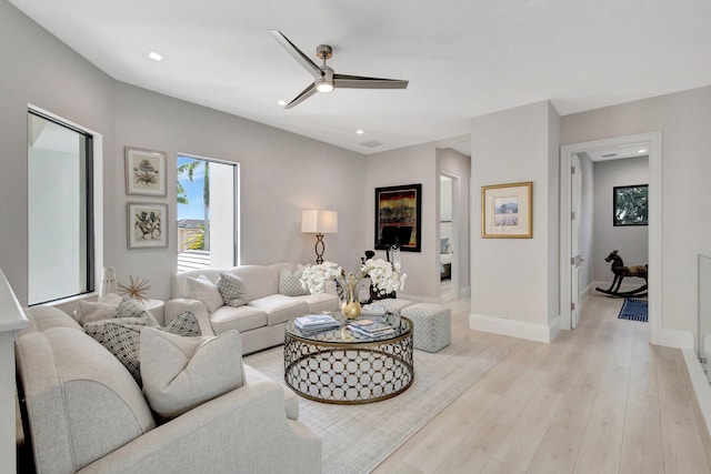
[[[532,190],[531,181],[481,186],[481,236],[531,239]]]

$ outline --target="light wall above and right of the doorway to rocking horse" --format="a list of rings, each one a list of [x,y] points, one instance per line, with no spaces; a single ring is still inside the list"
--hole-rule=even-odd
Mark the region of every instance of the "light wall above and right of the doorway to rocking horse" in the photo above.
[[[698,254],[711,254],[711,87],[561,119],[561,142],[662,131],[661,326],[697,332]],[[654,291],[654,289],[652,289]]]

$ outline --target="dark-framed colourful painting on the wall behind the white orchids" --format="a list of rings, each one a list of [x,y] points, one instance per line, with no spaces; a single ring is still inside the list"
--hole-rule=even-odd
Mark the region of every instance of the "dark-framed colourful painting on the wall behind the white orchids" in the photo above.
[[[375,188],[375,249],[421,251],[422,184]]]

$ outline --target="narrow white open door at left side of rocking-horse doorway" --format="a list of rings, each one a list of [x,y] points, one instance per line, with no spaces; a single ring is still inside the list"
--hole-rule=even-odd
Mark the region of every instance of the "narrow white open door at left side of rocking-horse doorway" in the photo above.
[[[580,273],[582,269],[582,255],[580,250],[580,209],[582,199],[582,169],[577,154],[572,157],[571,179],[571,219],[570,219],[570,323],[571,327],[578,326],[580,317]]]

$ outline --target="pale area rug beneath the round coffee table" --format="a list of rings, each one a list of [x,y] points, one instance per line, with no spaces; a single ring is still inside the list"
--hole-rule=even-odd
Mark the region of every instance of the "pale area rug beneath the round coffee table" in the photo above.
[[[415,350],[414,382],[393,399],[363,405],[331,405],[300,399],[299,421],[323,441],[323,472],[372,471],[507,352],[488,347],[463,356],[457,355],[453,346],[438,354]],[[249,355],[244,363],[284,385],[282,347]]]

